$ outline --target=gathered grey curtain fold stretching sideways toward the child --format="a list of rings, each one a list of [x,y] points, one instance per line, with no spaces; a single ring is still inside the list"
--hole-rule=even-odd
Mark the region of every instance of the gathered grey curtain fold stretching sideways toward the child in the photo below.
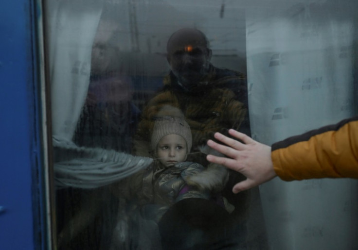
[[[97,188],[108,185],[148,167],[152,158],[132,156],[114,150],[56,147],[56,188]]]

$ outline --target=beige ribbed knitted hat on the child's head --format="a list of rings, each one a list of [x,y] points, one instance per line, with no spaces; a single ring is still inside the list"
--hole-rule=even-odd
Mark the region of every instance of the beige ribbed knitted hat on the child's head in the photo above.
[[[189,124],[178,108],[166,105],[155,117],[151,140],[152,150],[156,150],[161,138],[168,134],[178,134],[183,137],[186,141],[187,152],[190,152],[193,137]]]

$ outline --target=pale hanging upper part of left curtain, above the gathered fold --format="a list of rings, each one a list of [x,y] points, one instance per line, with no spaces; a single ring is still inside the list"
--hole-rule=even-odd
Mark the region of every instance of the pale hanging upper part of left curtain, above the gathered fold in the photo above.
[[[47,3],[53,137],[71,141],[90,83],[91,50],[103,3]]]

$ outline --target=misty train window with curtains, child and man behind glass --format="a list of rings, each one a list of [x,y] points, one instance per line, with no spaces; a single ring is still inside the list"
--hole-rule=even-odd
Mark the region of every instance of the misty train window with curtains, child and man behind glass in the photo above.
[[[209,163],[357,115],[355,0],[45,0],[59,250],[355,249],[357,181]]]

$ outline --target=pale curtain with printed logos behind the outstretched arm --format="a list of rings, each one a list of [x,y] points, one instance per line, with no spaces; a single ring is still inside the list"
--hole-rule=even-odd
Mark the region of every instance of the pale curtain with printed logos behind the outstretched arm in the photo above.
[[[307,2],[247,9],[252,136],[268,145],[353,115],[354,19]],[[276,178],[260,192],[270,249],[358,248],[356,180]]]

